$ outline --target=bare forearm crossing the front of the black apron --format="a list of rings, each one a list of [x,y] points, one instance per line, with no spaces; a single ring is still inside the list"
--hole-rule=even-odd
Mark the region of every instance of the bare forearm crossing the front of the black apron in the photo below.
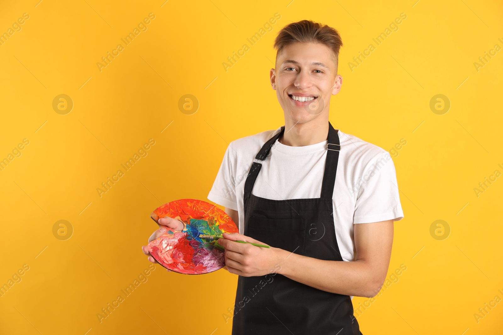
[[[382,285],[364,260],[326,261],[281,250],[278,264],[278,273],[327,292],[372,297]]]

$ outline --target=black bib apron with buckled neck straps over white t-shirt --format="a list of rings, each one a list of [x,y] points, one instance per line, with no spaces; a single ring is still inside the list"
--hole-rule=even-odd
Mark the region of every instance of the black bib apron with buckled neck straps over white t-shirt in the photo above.
[[[284,133],[267,141],[256,156],[265,161]],[[328,145],[321,197],[272,200],[251,194],[262,163],[251,165],[244,184],[244,235],[299,255],[342,261],[333,223],[332,194],[340,150],[328,123]],[[279,266],[278,266],[279,267]],[[278,269],[277,267],[277,269]],[[361,335],[348,295],[330,293],[275,272],[239,276],[232,334]]]

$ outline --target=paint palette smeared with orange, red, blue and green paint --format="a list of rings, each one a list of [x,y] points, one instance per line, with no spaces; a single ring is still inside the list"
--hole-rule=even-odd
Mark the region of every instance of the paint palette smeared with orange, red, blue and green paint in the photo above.
[[[234,221],[216,205],[196,199],[168,202],[150,214],[159,224],[161,217],[173,217],[184,223],[182,231],[167,231],[148,244],[153,258],[166,269],[198,275],[225,265],[223,249],[217,238],[222,233],[238,233]]]

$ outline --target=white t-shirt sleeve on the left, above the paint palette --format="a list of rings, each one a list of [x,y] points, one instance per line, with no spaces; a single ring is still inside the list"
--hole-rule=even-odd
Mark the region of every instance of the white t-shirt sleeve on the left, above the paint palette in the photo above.
[[[235,175],[237,155],[232,142],[228,145],[223,156],[213,186],[208,193],[208,199],[224,207],[237,210]]]

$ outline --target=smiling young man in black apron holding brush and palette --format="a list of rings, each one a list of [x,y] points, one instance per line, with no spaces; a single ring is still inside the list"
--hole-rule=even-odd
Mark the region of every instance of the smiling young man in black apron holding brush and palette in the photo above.
[[[389,153],[328,121],[341,46],[312,21],[279,32],[270,76],[285,126],[232,141],[208,194],[239,227],[218,240],[239,275],[233,334],[361,334],[351,299],[384,283],[403,212]]]

